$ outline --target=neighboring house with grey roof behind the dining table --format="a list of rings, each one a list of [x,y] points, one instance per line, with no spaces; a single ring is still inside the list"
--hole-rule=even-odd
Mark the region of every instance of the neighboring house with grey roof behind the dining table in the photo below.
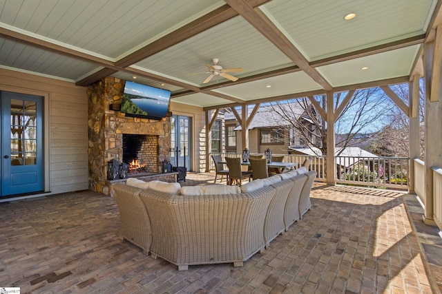
[[[302,119],[314,125],[304,114],[304,110],[298,103],[282,105],[287,109],[291,118]],[[248,116],[253,108],[249,107]],[[224,113],[225,125],[225,151],[233,153],[242,152],[242,127],[232,112]],[[249,125],[249,150],[251,154],[264,153],[271,149],[273,154],[287,154],[289,146],[307,147],[304,140],[298,136],[298,131],[290,127],[287,120],[273,111],[271,106],[261,106]]]

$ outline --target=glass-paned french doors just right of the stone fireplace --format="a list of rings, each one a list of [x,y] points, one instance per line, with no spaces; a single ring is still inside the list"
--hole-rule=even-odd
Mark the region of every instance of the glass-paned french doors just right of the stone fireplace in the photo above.
[[[191,118],[171,117],[171,164],[191,170]]]

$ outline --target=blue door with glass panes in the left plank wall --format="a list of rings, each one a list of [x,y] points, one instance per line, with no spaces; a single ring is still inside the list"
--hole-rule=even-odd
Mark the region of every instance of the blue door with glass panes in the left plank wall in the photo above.
[[[1,194],[44,190],[43,97],[1,96]]]

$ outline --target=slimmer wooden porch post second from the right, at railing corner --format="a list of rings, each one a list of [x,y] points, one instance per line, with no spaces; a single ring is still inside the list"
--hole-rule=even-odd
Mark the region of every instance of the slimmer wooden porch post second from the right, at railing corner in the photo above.
[[[409,83],[409,105],[410,105],[410,114],[409,114],[409,122],[410,129],[409,133],[409,157],[410,157],[410,190],[408,193],[415,194],[414,191],[414,158],[420,158],[421,156],[421,123],[419,118],[419,108],[420,108],[420,87],[419,87],[419,75],[415,75],[413,77],[413,81]]]

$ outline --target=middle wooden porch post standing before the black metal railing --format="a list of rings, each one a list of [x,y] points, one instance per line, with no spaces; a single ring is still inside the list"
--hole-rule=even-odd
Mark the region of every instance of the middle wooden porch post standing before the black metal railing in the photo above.
[[[327,92],[327,158],[325,158],[327,185],[336,185],[336,165],[334,163],[334,103],[333,92]]]

